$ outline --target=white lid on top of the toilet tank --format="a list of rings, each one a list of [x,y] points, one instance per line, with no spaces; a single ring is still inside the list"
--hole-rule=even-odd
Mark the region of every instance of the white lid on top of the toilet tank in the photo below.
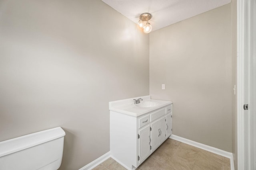
[[[0,142],[0,157],[65,136],[61,127],[31,133]]]

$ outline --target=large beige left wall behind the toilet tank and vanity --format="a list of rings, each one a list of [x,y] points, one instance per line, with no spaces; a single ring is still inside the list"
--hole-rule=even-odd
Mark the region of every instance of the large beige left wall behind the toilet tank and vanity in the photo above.
[[[0,1],[0,141],[65,132],[61,170],[109,151],[108,102],[149,94],[149,36],[100,0]]]

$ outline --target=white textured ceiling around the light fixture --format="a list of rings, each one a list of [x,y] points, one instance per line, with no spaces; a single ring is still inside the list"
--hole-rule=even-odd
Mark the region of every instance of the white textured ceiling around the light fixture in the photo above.
[[[218,8],[231,0],[102,0],[134,23],[139,16],[152,14],[152,31]]]

